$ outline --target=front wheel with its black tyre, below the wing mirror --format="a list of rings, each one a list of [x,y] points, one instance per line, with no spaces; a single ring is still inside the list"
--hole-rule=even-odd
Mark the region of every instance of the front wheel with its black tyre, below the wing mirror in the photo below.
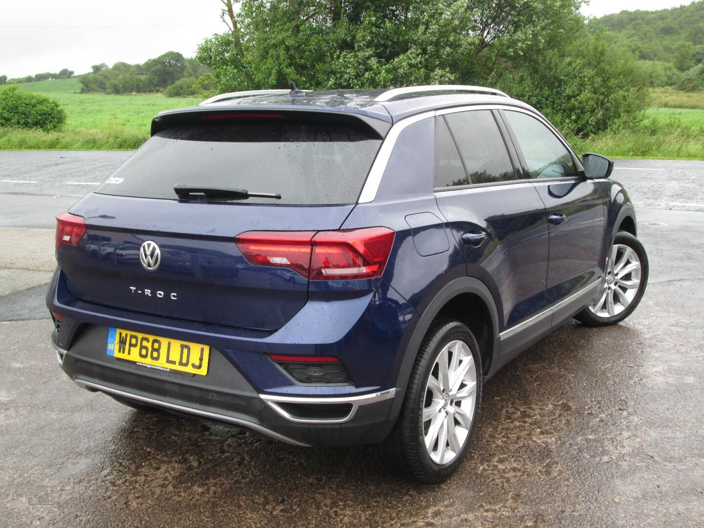
[[[601,294],[575,315],[590,327],[616,325],[638,307],[648,285],[648,254],[632,234],[620,231],[608,252]]]

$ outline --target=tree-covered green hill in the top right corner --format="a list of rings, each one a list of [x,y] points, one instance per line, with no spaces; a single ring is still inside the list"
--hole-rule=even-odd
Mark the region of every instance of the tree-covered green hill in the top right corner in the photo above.
[[[704,59],[704,1],[658,11],[621,11],[589,21],[609,30],[645,61],[663,61],[686,71]]]

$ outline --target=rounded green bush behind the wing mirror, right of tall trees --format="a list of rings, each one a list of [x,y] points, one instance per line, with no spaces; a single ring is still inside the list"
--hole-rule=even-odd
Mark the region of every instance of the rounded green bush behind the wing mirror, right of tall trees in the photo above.
[[[648,80],[635,56],[601,32],[548,51],[495,84],[577,137],[636,121],[649,99]]]

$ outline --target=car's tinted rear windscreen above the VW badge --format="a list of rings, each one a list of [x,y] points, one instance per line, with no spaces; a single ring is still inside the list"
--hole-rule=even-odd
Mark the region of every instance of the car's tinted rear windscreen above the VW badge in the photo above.
[[[96,192],[175,200],[174,185],[185,184],[281,194],[280,200],[228,199],[242,203],[356,203],[381,144],[365,125],[287,120],[177,125],[151,137]]]

